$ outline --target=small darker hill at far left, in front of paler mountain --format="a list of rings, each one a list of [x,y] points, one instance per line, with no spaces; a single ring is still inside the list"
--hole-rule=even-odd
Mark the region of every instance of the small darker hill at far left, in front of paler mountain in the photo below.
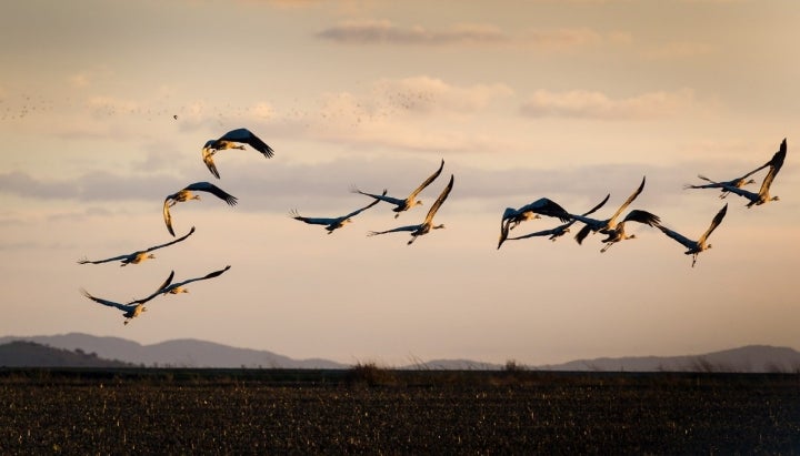
[[[103,359],[96,353],[78,348],[70,352],[29,341],[12,341],[0,344],[2,367],[130,367],[128,363]]]

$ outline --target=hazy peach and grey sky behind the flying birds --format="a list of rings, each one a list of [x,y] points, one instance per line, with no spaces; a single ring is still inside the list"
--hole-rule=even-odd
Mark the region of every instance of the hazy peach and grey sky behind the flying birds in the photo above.
[[[470,358],[536,366],[701,354],[748,344],[800,349],[800,3],[793,0],[11,2],[0,17],[0,335],[71,332],[142,344],[198,338],[293,358],[400,366]],[[201,148],[248,128],[274,149]],[[771,194],[684,190],[767,162]],[[327,234],[288,214],[333,217],[404,197]],[[760,183],[766,171],[753,178]],[[450,175],[436,230],[421,223]],[[691,266],[660,231],[600,253],[601,235],[509,241],[506,207],[549,197],[604,219],[630,209],[697,239]],[[78,264],[172,240],[154,260]],[[757,191],[758,185],[750,190]],[[512,234],[558,225],[520,224]],[[580,224],[576,225],[576,229]],[[174,271],[226,265],[129,325],[83,297],[127,302]]]

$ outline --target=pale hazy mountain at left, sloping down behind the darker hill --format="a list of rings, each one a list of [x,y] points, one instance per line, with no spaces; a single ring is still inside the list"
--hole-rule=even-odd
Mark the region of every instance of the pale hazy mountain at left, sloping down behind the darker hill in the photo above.
[[[280,368],[346,368],[344,364],[328,359],[292,359],[268,351],[237,348],[197,340],[176,340],[141,345],[120,337],[98,337],[70,333],[54,336],[6,336],[0,344],[30,341],[57,348],[97,353],[109,359],[122,359],[147,367],[280,367]]]

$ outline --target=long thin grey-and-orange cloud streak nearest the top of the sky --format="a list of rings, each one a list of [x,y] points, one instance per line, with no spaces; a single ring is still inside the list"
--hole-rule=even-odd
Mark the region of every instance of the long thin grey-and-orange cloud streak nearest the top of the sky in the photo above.
[[[389,21],[349,22],[317,33],[323,40],[349,44],[399,45],[531,45],[542,49],[563,49],[603,42],[627,42],[626,33],[600,33],[587,28],[531,29],[510,34],[490,24],[459,24],[443,30],[423,27],[399,27]]]

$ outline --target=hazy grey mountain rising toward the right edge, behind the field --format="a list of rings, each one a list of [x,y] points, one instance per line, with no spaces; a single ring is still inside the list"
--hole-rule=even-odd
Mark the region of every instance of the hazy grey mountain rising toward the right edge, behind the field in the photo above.
[[[748,345],[689,356],[628,356],[578,359],[540,366],[547,371],[610,372],[800,372],[800,352],[788,347]]]

